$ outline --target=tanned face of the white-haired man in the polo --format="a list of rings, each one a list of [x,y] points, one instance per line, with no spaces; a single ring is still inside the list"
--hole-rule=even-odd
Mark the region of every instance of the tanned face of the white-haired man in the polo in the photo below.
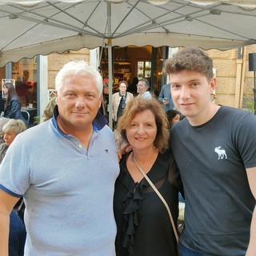
[[[70,75],[57,94],[56,103],[62,123],[68,130],[91,127],[102,103],[96,82],[90,76]]]

